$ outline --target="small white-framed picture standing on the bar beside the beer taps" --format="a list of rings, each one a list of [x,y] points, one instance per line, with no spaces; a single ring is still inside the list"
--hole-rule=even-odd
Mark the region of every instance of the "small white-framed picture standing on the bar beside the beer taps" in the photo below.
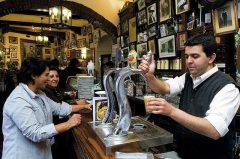
[[[107,97],[93,97],[93,123],[103,120],[107,108]]]

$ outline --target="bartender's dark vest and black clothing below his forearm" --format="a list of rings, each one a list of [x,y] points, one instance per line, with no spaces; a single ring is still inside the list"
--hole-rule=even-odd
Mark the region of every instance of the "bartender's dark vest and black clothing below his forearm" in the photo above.
[[[179,108],[191,115],[205,117],[214,96],[227,84],[233,83],[226,74],[217,71],[199,86],[193,89],[193,81],[186,74],[184,89]],[[218,140],[197,134],[180,124],[174,134],[177,151],[183,159],[232,159],[235,143],[234,120],[229,132]]]

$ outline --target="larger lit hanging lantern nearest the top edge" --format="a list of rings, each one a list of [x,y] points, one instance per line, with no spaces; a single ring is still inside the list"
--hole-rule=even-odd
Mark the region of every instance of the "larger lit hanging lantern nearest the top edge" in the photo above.
[[[59,5],[49,8],[49,23],[56,28],[72,25],[72,11],[62,5],[62,0],[59,1]]]

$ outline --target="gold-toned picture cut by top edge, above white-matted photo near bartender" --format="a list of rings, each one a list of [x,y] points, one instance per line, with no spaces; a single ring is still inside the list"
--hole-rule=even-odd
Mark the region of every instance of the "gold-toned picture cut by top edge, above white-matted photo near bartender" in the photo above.
[[[160,22],[172,18],[172,0],[160,0]]]

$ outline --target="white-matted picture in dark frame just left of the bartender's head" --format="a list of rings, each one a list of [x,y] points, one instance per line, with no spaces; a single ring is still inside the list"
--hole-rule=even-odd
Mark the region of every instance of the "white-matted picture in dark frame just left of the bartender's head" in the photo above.
[[[176,56],[174,35],[158,39],[159,58]]]

